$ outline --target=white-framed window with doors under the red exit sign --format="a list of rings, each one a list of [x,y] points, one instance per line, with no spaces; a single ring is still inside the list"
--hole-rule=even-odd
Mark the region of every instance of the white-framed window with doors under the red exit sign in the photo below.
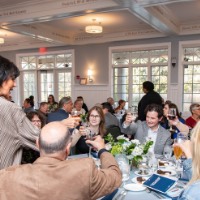
[[[18,55],[20,62],[21,103],[30,95],[35,97],[35,105],[47,101],[53,94],[59,101],[63,96],[71,96],[73,52],[55,52],[47,55]]]

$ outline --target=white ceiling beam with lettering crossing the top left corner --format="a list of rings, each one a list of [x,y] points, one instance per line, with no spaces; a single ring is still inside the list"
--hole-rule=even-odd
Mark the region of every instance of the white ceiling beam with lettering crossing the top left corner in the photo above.
[[[33,1],[34,2],[34,1]],[[9,8],[0,8],[0,25],[19,25],[52,21],[66,17],[81,16],[94,12],[103,12],[117,4],[111,0],[56,0],[37,1]]]

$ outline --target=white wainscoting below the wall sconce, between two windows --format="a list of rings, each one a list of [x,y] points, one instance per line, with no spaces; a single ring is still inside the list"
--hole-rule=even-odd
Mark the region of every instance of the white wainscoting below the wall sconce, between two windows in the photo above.
[[[108,85],[75,85],[73,90],[73,100],[77,96],[82,96],[88,108],[91,108],[96,103],[107,101],[111,91]]]

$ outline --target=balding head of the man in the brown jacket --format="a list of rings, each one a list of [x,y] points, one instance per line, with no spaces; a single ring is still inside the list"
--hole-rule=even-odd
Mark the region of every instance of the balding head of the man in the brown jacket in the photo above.
[[[71,142],[68,128],[61,122],[51,122],[42,128],[39,136],[39,149],[41,154],[56,154],[65,151]]]

